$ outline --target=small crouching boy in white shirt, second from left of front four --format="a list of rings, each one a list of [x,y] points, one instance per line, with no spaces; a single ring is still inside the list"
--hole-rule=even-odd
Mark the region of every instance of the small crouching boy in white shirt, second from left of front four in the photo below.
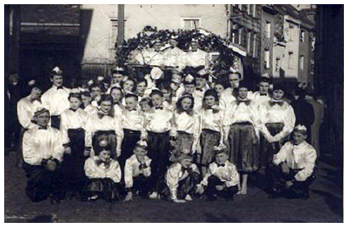
[[[146,141],[138,141],[133,152],[124,166],[124,184],[127,191],[124,202],[133,200],[133,193],[148,198],[151,187],[151,158],[146,156]]]

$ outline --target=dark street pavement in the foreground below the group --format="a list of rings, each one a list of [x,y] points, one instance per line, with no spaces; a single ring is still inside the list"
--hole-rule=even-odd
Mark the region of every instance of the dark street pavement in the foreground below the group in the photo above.
[[[32,203],[25,196],[25,174],[14,167],[14,153],[5,156],[5,222],[342,222],[342,185],[336,169],[320,162],[309,200],[269,199],[257,187],[235,200],[186,204],[141,200],[109,204],[103,200],[79,202],[50,200]]]

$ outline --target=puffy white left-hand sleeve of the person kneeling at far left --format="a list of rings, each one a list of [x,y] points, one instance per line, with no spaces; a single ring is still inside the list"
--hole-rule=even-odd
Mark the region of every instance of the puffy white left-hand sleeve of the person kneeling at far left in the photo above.
[[[34,149],[32,134],[30,131],[24,132],[22,150],[25,163],[30,165],[41,165],[42,158]]]

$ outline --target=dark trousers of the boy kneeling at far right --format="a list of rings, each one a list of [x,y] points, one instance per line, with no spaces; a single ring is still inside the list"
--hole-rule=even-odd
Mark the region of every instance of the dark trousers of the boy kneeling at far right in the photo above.
[[[295,193],[300,193],[302,195],[308,195],[309,194],[309,185],[312,184],[314,181],[314,175],[309,176],[307,180],[305,181],[297,181],[295,180],[295,175],[298,173],[299,170],[290,169],[290,172],[288,174],[283,173],[280,166],[272,165],[270,167],[271,170],[271,178],[272,178],[272,191],[273,192],[281,192],[281,191],[288,191],[291,190]],[[285,182],[289,180],[295,180],[292,187],[287,189],[285,186]]]

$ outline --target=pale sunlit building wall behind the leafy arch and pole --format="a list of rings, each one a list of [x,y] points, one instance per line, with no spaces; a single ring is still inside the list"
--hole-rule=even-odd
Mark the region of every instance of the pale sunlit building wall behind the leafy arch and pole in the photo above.
[[[82,21],[87,21],[82,73],[107,75],[116,63],[118,5],[80,6]],[[124,38],[133,38],[146,25],[157,29],[194,29],[202,27],[223,38],[227,36],[225,5],[124,5]]]

